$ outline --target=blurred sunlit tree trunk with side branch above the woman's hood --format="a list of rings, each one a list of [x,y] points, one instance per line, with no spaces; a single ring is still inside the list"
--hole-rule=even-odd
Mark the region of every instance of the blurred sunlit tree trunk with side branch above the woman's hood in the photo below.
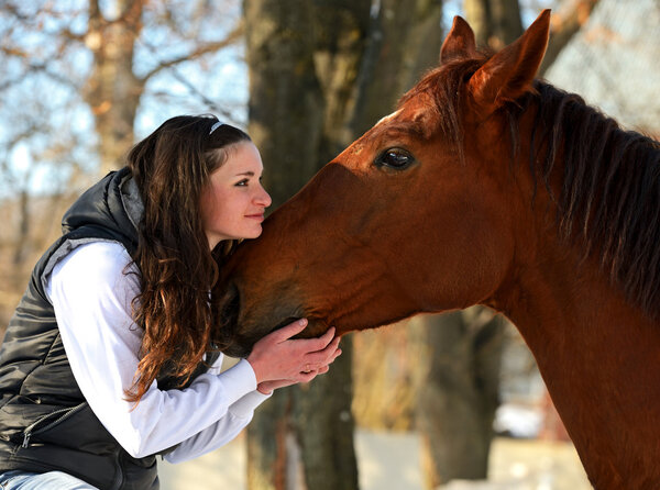
[[[116,13],[108,19],[98,0],[89,0],[86,32],[76,35],[66,31],[68,38],[85,43],[94,55],[91,74],[86,81],[84,93],[94,112],[96,130],[100,137],[101,172],[121,166],[127,148],[133,144],[135,113],[150,79],[178,64],[195,60],[205,54],[234,44],[242,35],[242,26],[239,24],[220,40],[197,41],[183,53],[158,56],[161,49],[142,37],[145,16],[155,18],[158,23],[167,25],[177,37],[184,37],[186,31],[188,35],[193,34],[189,23],[198,24],[211,10],[210,5],[204,9],[198,7],[198,11],[193,12],[193,16],[182,25],[176,22],[178,15],[175,9],[178,7],[185,11],[186,7],[183,3],[168,5],[167,2],[163,2],[158,5],[161,9],[152,11],[147,10],[148,7],[146,0],[116,0]],[[142,42],[152,56],[160,58],[160,62],[143,75],[138,75],[134,70],[139,42]]]

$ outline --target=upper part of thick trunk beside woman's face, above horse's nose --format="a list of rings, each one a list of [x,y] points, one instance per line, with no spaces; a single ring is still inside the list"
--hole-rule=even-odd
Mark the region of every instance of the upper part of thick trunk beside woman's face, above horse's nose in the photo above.
[[[249,130],[266,165],[273,208],[320,165],[324,104],[314,69],[312,7],[307,1],[245,0],[250,70]]]

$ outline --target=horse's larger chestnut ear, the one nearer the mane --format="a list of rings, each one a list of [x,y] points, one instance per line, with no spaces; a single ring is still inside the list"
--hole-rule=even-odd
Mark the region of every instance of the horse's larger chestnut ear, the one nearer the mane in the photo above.
[[[550,10],[544,10],[514,43],[495,54],[472,76],[469,89],[487,113],[516,100],[531,88],[550,32]]]

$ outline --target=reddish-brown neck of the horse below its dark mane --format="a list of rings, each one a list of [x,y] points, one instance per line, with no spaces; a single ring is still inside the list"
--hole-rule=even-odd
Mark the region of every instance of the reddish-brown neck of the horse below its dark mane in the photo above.
[[[539,229],[492,305],[534,353],[594,487],[660,488],[659,326],[595,261]]]

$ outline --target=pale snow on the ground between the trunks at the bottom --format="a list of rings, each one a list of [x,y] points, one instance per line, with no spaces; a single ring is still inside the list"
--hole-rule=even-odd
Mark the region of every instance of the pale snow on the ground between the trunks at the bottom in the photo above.
[[[245,439],[180,465],[160,461],[162,490],[245,490]],[[422,490],[416,434],[359,431],[361,490]],[[498,437],[488,481],[453,481],[441,490],[591,490],[571,444]]]

